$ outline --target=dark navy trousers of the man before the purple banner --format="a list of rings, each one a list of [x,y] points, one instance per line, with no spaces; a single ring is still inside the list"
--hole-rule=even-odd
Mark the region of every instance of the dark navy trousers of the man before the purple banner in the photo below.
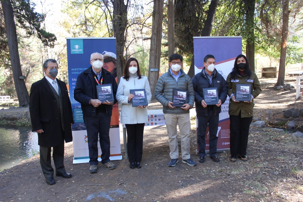
[[[214,114],[212,108],[208,109],[207,112],[208,116],[197,114],[199,156],[205,156],[205,134],[207,125],[209,129],[209,155],[214,156],[217,154],[219,114]]]

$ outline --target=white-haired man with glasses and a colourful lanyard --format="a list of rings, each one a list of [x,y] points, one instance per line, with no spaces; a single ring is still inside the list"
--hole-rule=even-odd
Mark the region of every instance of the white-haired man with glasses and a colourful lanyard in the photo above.
[[[89,152],[89,172],[96,173],[98,170],[98,134],[101,147],[101,163],[108,169],[115,169],[110,159],[110,139],[109,128],[112,116],[112,105],[117,102],[116,92],[118,85],[115,77],[102,68],[103,55],[92,53],[90,58],[92,65],[83,71],[77,78],[74,98],[81,103],[83,120],[87,131],[88,152]],[[98,100],[97,85],[112,84],[114,102]]]

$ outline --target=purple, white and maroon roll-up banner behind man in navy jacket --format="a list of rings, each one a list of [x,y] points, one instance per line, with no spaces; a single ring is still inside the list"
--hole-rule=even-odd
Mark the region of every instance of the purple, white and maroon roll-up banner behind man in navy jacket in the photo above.
[[[228,37],[194,37],[194,59],[195,59],[195,74],[201,72],[204,68],[204,57],[211,54],[215,57],[215,68],[223,76],[227,75],[234,67],[235,59],[239,54],[242,54],[242,37],[228,36]],[[219,115],[218,126],[218,144],[217,151],[229,149],[229,115],[228,115],[229,97],[221,105],[221,113]],[[198,120],[197,120],[197,134],[198,134]],[[205,135],[205,152],[209,152],[209,131],[206,129]],[[197,144],[198,147],[198,144]],[[207,150],[207,151],[206,151]],[[199,149],[197,148],[197,151]]]

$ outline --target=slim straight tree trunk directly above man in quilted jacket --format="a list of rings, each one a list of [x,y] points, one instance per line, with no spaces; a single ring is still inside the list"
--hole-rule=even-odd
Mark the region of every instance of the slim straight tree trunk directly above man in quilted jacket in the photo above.
[[[175,52],[175,0],[168,0],[167,16],[168,16],[168,57],[169,57]]]

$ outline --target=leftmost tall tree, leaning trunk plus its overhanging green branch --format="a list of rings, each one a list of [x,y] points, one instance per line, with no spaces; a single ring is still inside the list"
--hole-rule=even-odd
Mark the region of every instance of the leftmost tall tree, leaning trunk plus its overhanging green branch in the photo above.
[[[26,107],[29,104],[29,95],[21,71],[15,19],[28,35],[36,34],[46,45],[54,45],[56,37],[40,28],[44,16],[34,12],[33,5],[28,0],[0,0],[0,2],[19,106]]]

